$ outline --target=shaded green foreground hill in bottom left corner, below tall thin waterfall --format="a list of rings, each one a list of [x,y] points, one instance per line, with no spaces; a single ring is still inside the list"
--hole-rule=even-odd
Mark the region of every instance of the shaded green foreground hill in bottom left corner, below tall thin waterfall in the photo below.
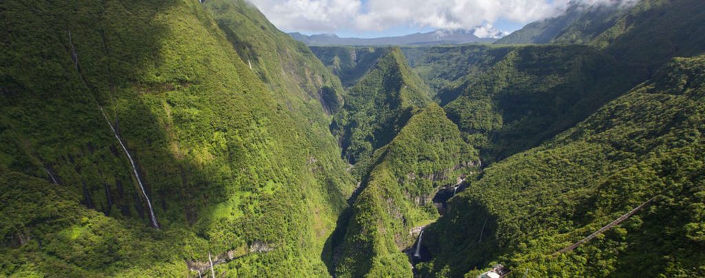
[[[80,204],[69,188],[0,170],[3,276],[185,276],[184,258],[202,258],[208,241],[183,227],[154,230]],[[207,253],[206,253],[207,254]]]

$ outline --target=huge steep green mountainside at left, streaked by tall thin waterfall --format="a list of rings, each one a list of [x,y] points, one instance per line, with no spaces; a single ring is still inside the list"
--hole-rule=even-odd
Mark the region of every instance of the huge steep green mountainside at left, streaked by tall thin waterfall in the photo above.
[[[327,275],[354,187],[338,81],[300,44],[233,39],[281,37],[254,8],[210,5],[0,3],[0,276],[193,276],[209,252],[228,276]]]

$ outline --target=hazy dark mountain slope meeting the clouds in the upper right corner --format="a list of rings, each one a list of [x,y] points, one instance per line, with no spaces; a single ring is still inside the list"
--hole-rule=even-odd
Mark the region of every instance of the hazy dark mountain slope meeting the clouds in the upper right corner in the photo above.
[[[529,24],[496,44],[588,44],[653,72],[670,58],[700,53],[703,18],[705,2],[699,0],[572,6],[564,15]]]

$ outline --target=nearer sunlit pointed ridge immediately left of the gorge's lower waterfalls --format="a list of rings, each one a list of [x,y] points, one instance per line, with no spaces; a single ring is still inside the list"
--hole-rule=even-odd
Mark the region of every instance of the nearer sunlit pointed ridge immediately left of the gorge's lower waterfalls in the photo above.
[[[353,199],[336,277],[411,277],[401,251],[414,243],[412,228],[439,217],[431,201],[439,187],[477,171],[477,153],[436,104],[411,117],[374,161]]]

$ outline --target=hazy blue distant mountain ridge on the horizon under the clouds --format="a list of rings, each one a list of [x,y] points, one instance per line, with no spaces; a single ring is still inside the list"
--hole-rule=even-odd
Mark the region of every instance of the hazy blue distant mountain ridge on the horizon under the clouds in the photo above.
[[[441,44],[490,44],[503,36],[495,32],[489,38],[475,36],[474,29],[441,30],[407,34],[399,37],[381,38],[341,38],[336,34],[314,34],[307,36],[299,32],[289,33],[291,37],[308,46],[345,45],[345,46],[429,46]]]

